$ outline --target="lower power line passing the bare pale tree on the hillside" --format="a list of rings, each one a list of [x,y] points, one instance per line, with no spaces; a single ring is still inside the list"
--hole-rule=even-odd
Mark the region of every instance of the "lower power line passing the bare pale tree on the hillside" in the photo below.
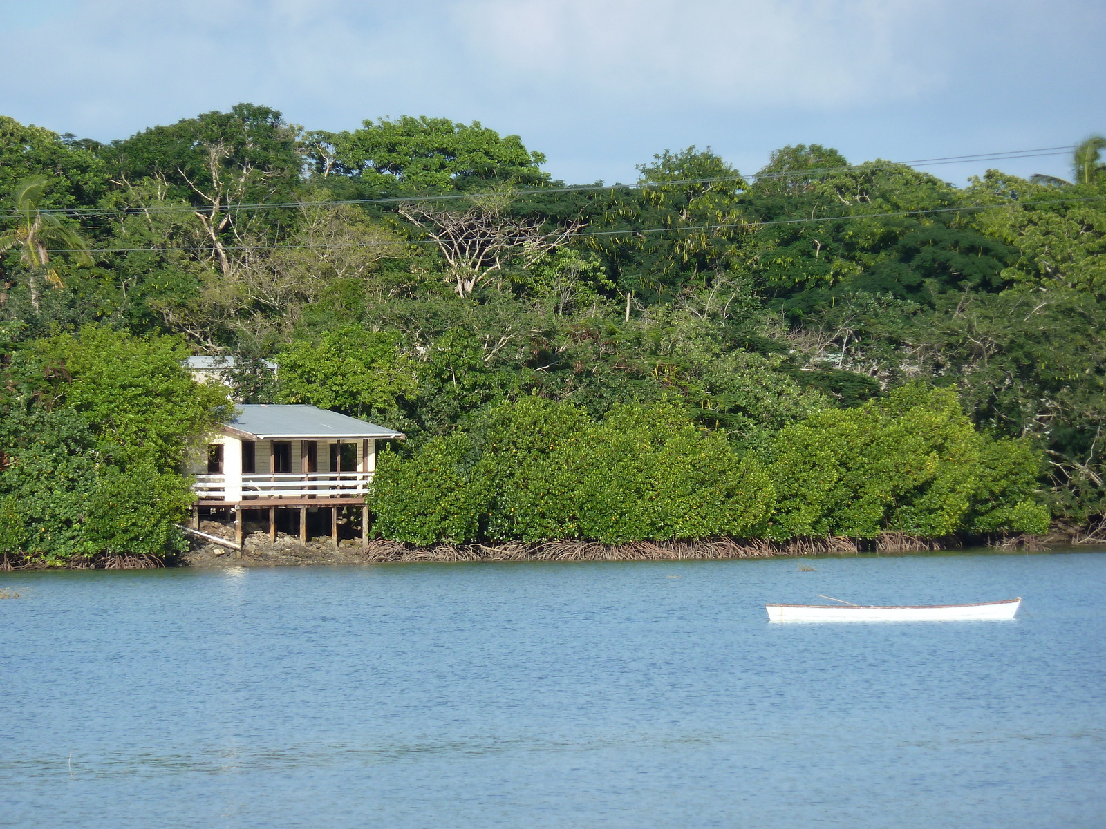
[[[697,224],[697,225],[686,225],[686,227],[674,227],[674,228],[632,228],[626,230],[596,230],[596,231],[583,231],[576,233],[573,238],[580,237],[634,237],[644,235],[646,233],[679,233],[679,232],[697,232],[705,230],[733,230],[738,228],[769,228],[786,224],[817,224],[820,222],[833,222],[833,221],[854,221],[858,219],[890,219],[890,218],[902,218],[911,216],[935,216],[939,213],[961,213],[961,212],[979,212],[983,210],[998,210],[1011,207],[1039,207],[1041,204],[1058,204],[1058,203],[1072,203],[1072,202],[1088,202],[1088,201],[1106,201],[1106,196],[1087,196],[1083,198],[1073,199],[1047,199],[1044,201],[1016,201],[1003,204],[974,204],[974,206],[960,206],[960,207],[949,207],[949,208],[932,208],[928,210],[898,210],[893,212],[884,213],[853,213],[849,216],[823,216],[817,218],[807,219],[775,219],[772,221],[745,221],[745,222],[724,222],[719,224]],[[341,249],[341,248],[390,248],[390,246],[407,246],[415,244],[437,244],[432,239],[419,239],[411,241],[393,241],[393,242],[357,242],[351,244],[237,244],[237,245],[223,245],[223,250],[228,251],[265,251],[265,250],[313,250],[316,248],[325,248],[328,250]],[[153,253],[153,252],[170,252],[180,251],[185,253],[195,252],[207,252],[210,251],[209,245],[204,246],[190,246],[190,248],[178,248],[178,246],[164,246],[164,248],[87,248],[87,249],[75,249],[75,248],[59,248],[51,249],[49,253]]]

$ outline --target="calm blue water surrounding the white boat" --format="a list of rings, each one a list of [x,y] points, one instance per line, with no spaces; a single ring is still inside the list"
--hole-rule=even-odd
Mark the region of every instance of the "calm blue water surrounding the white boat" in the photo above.
[[[1106,555],[806,564],[0,574],[0,826],[1106,823]]]

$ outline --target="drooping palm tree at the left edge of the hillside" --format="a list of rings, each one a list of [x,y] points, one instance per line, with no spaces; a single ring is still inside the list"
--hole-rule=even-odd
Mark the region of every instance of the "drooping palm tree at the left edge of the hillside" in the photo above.
[[[53,213],[39,210],[39,202],[46,188],[46,179],[33,176],[23,179],[15,186],[15,213],[18,223],[14,228],[0,232],[0,252],[19,248],[19,261],[27,269],[28,287],[31,292],[31,304],[39,309],[39,273],[45,270],[46,282],[54,287],[62,287],[61,276],[50,264],[51,248],[62,250],[82,265],[92,265],[88,245],[81,234],[72,228],[62,224]]]

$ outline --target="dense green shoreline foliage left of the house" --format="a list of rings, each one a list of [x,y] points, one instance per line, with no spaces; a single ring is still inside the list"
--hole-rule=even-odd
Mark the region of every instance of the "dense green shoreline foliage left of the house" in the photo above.
[[[226,413],[176,338],[104,327],[11,349],[0,392],[0,555],[80,565],[180,549],[188,440]]]

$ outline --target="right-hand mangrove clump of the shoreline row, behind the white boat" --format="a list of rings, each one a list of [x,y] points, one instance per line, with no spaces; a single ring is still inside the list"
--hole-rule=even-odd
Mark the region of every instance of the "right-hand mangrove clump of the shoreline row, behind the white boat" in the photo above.
[[[999,465],[1010,478],[997,485],[983,463],[1004,455],[1011,460]],[[948,390],[907,386],[863,407],[818,412],[783,429],[772,458],[775,538],[1048,526],[1048,511],[1033,497],[1040,461],[1024,444],[989,445]]]

